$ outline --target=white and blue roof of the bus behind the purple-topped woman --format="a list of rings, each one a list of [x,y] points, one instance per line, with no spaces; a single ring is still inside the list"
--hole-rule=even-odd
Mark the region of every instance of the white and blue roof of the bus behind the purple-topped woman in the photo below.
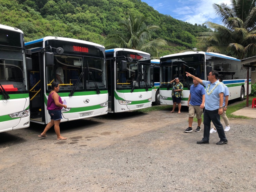
[[[41,38],[41,39],[37,39],[37,40],[34,40],[34,41],[30,41],[30,42],[26,42],[25,46],[32,45],[32,44],[39,43],[39,42],[45,42],[45,41],[51,40],[51,39],[54,39],[54,40],[58,39],[58,40],[61,40],[61,41],[69,41],[69,42],[76,42],[76,43],[93,45],[93,46],[97,46],[97,47],[104,47],[103,45],[100,45],[100,44],[97,44],[97,43],[92,43],[92,42],[89,42],[89,41],[83,41],[83,40],[79,40],[79,39],[71,39],[71,38],[65,38],[65,37],[51,37],[51,36],[44,37],[44,38]]]

